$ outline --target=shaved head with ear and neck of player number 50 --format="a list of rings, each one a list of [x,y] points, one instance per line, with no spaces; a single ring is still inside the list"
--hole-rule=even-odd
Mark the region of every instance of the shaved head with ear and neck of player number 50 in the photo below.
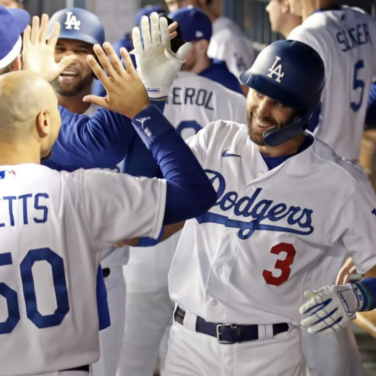
[[[0,76],[0,164],[40,163],[61,125],[52,86],[30,71]]]

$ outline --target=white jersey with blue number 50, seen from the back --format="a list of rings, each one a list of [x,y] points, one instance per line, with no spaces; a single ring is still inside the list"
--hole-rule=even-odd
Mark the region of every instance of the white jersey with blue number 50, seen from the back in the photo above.
[[[0,375],[96,361],[99,250],[158,237],[165,180],[21,164],[1,166],[0,190]]]

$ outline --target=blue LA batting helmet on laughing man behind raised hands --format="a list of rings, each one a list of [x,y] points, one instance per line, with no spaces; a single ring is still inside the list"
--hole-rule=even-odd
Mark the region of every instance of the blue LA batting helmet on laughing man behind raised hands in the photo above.
[[[49,34],[53,24],[60,23],[59,38],[77,39],[90,44],[105,42],[105,30],[99,18],[86,9],[67,8],[52,15],[49,22]]]

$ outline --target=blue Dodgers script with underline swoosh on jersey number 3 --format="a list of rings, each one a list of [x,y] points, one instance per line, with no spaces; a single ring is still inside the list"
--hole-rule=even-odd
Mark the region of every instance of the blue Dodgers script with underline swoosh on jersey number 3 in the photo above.
[[[290,208],[288,208],[286,204],[275,203],[273,200],[258,200],[262,188],[257,188],[252,197],[239,197],[234,191],[225,193],[226,180],[224,177],[214,170],[205,170],[205,172],[209,177],[212,175],[210,182],[213,185],[214,183],[218,183],[218,200],[214,206],[219,205],[223,211],[233,209],[233,213],[237,217],[252,217],[253,219],[250,221],[229,219],[226,215],[215,214],[208,211],[196,218],[200,224],[219,223],[224,224],[225,227],[237,228],[239,229],[238,237],[240,239],[248,239],[255,230],[290,232],[298,235],[309,235],[313,232],[314,227],[312,226],[311,218],[313,211],[311,209],[302,209],[300,206],[290,206]],[[287,223],[291,227],[261,223],[265,219],[278,222],[284,218],[286,218]]]

